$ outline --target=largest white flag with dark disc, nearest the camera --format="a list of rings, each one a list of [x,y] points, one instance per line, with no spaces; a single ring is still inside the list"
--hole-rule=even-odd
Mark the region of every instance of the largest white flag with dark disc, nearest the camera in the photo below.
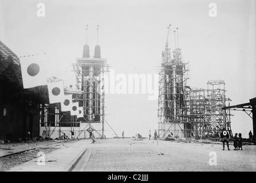
[[[46,55],[27,55],[19,58],[23,88],[46,85]]]

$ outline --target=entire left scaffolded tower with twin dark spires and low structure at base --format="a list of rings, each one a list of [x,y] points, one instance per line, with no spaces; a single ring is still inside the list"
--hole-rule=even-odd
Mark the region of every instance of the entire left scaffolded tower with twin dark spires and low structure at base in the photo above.
[[[97,45],[94,47],[93,56],[89,54],[87,30],[88,25],[86,25],[86,45],[84,45],[82,57],[76,58],[76,63],[72,64],[76,86],[74,89],[72,85],[69,89],[64,88],[65,94],[72,94],[73,102],[78,102],[78,106],[83,108],[84,116],[78,118],[77,116],[71,116],[69,112],[61,112],[59,104],[41,104],[40,130],[46,137],[58,138],[61,137],[61,134],[68,133],[70,135],[70,132],[74,132],[76,138],[87,138],[88,133],[91,137],[92,132],[96,132],[96,136],[105,138],[105,123],[115,133],[105,120],[104,77],[109,66],[107,65],[107,59],[101,58],[101,48],[98,44],[99,25],[97,26]],[[57,81],[55,77],[49,79]],[[86,132],[88,132],[87,136]]]

